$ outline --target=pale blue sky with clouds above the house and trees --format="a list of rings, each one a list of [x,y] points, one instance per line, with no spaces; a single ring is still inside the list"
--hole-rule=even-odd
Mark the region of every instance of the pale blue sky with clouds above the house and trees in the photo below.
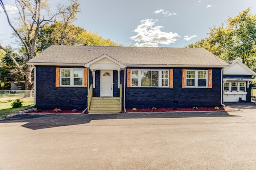
[[[56,2],[56,0],[54,1]],[[206,38],[255,0],[79,0],[76,26],[98,32],[124,46],[184,47]],[[0,41],[10,42],[10,27],[0,14]]]

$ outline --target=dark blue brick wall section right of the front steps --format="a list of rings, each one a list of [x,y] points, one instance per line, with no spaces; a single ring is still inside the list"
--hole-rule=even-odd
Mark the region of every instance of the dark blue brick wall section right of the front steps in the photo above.
[[[136,68],[131,68],[136,69]],[[137,68],[142,69],[142,68]],[[144,68],[143,68],[144,69]],[[163,68],[154,68],[163,69]],[[173,69],[173,88],[126,87],[126,108],[220,106],[221,68],[212,69],[212,88],[182,88],[182,69]]]

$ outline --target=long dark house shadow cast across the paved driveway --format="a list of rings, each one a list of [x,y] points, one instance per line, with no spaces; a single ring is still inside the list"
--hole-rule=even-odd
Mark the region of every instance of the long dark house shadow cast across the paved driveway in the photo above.
[[[0,123],[28,122],[23,127],[33,130],[90,123],[92,120],[105,119],[149,119],[149,118],[185,118],[185,117],[233,117],[223,112],[168,112],[168,113],[120,113],[95,115],[19,115],[0,121]]]

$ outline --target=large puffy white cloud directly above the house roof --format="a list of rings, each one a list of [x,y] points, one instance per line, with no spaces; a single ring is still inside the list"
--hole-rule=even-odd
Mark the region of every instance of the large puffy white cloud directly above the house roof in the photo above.
[[[136,43],[134,46],[158,47],[158,44],[169,45],[177,41],[180,37],[177,33],[162,32],[162,26],[154,26],[158,20],[141,20],[141,24],[134,30],[136,36],[130,37]]]

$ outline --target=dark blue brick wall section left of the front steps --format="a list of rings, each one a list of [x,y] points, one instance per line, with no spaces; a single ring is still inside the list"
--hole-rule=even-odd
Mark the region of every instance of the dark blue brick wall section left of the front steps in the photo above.
[[[85,109],[87,87],[55,87],[55,68],[55,66],[36,66],[36,107],[42,110],[53,110],[56,107]]]

